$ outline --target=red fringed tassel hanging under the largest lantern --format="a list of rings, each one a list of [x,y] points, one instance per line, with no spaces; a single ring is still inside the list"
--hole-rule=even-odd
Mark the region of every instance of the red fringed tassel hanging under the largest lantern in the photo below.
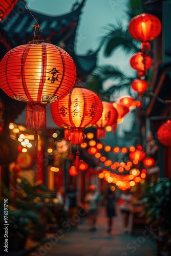
[[[27,129],[46,129],[46,105],[28,102],[26,109]]]

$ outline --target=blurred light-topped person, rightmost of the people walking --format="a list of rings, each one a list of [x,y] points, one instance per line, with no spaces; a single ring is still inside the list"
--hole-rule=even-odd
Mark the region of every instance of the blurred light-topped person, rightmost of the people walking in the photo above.
[[[132,209],[132,199],[133,195],[130,193],[129,189],[126,189],[124,193],[121,194],[120,199],[122,204],[120,205],[120,210],[123,216],[123,231],[127,233],[129,231],[129,217]]]

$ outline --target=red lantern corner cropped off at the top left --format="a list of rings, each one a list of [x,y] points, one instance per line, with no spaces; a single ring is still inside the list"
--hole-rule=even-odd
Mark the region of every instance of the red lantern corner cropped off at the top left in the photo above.
[[[0,22],[11,12],[18,0],[1,0]]]

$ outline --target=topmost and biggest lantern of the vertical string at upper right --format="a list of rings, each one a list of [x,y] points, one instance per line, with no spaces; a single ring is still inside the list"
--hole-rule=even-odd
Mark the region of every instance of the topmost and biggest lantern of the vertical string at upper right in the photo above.
[[[148,13],[141,13],[135,16],[129,24],[131,36],[142,42],[142,51],[151,50],[149,41],[159,36],[161,28],[160,19]]]

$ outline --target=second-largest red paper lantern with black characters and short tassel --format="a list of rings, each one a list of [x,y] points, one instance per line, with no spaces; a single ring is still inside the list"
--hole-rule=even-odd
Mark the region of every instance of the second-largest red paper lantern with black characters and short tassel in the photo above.
[[[70,143],[84,141],[84,128],[92,126],[101,117],[103,105],[98,95],[88,89],[75,86],[63,99],[50,106],[54,123],[71,129]]]

